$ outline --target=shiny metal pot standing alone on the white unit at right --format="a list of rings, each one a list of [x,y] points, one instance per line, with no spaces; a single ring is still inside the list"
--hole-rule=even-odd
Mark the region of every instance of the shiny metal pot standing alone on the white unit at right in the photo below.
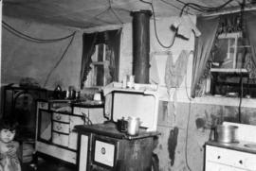
[[[236,131],[237,126],[218,125],[215,129],[215,140],[219,143],[235,143],[237,142]]]

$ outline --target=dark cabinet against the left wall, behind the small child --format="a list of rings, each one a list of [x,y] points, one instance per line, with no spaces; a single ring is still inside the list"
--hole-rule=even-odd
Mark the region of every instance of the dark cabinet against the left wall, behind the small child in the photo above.
[[[4,117],[15,118],[19,123],[19,137],[32,139],[36,134],[36,100],[46,99],[47,90],[40,88],[5,86]]]

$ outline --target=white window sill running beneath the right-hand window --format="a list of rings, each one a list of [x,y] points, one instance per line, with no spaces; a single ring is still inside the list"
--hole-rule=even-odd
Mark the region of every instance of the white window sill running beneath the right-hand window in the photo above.
[[[226,97],[226,96],[213,96],[213,95],[196,97],[192,100],[192,103],[220,105],[220,106],[234,106],[234,107],[238,107],[240,102],[241,102],[241,99],[239,97]],[[242,98],[241,107],[256,108],[256,99]]]

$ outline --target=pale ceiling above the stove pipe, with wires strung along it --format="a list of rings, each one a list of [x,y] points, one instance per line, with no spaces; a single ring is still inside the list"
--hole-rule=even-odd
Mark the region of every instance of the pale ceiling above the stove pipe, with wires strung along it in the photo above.
[[[235,9],[242,1],[233,0],[226,9]],[[119,25],[132,21],[131,11],[152,10],[150,2],[153,2],[155,18],[158,18],[178,16],[188,2],[213,8],[228,0],[3,0],[3,20],[9,16],[76,28]],[[254,6],[254,2],[246,0],[249,7]],[[202,13],[192,8],[187,11]]]

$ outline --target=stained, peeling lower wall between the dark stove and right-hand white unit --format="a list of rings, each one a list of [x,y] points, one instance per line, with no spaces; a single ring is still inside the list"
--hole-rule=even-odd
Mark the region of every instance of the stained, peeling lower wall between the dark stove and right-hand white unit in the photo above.
[[[157,126],[161,136],[155,148],[159,170],[203,171],[210,128],[216,121],[238,122],[238,111],[237,106],[161,101]],[[241,108],[241,116],[243,124],[256,125],[255,108]],[[176,145],[170,141],[175,140],[173,132]]]

